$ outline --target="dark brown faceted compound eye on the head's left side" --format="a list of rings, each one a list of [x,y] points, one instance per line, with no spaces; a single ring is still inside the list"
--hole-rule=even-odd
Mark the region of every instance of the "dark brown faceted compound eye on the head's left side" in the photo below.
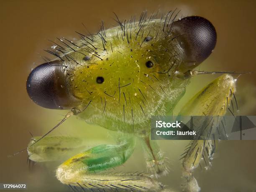
[[[49,109],[74,107],[75,98],[68,92],[64,67],[58,62],[39,65],[31,71],[27,80],[29,97],[37,105]]]

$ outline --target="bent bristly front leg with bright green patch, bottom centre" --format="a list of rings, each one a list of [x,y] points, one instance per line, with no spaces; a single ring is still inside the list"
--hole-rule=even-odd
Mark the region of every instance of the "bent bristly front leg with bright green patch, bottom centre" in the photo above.
[[[56,170],[61,183],[73,187],[114,190],[159,190],[162,186],[141,173],[113,174],[101,172],[128,160],[133,153],[133,137],[122,137],[116,145],[99,145],[62,163]],[[95,172],[100,173],[95,173]]]

